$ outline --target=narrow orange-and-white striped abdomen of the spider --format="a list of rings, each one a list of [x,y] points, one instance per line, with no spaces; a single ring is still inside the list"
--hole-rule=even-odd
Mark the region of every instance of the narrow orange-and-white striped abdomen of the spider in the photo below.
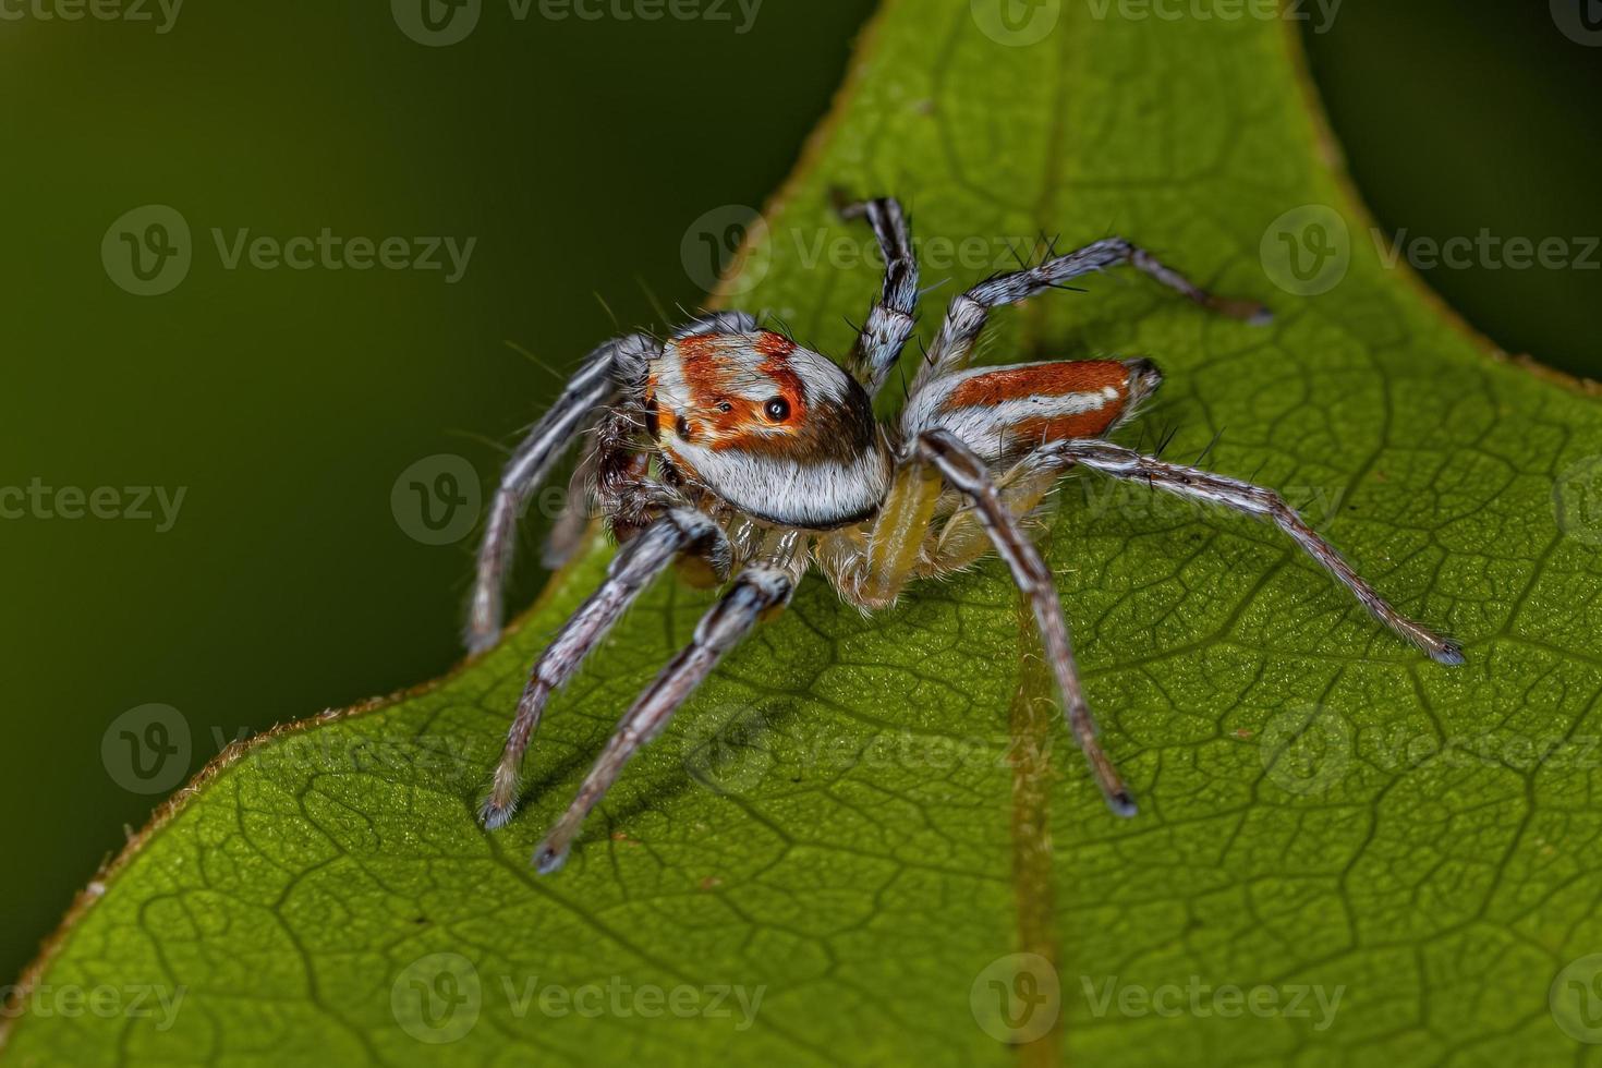
[[[1046,442],[1101,437],[1161,381],[1150,360],[980,367],[920,391],[902,413],[902,432],[912,440],[940,428],[1001,464]]]

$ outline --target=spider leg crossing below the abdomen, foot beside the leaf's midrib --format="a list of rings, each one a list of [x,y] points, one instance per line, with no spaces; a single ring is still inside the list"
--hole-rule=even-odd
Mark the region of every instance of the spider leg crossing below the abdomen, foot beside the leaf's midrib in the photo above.
[[[1057,690],[1062,693],[1069,730],[1085,753],[1107,805],[1117,815],[1133,817],[1136,813],[1134,799],[1097,740],[1096,721],[1085,701],[1085,689],[1080,685],[1078,666],[1073,661],[1069,623],[1062,616],[1062,604],[1057,600],[1056,580],[1041,559],[1040,549],[1024,532],[1022,520],[1003,504],[984,461],[955,434],[944,429],[924,432],[918,437],[918,456],[934,464],[940,476],[969,500],[995,543],[996,554],[1012,572],[1012,581],[1028,597],[1035,624],[1040,628],[1046,663],[1051,666]]]

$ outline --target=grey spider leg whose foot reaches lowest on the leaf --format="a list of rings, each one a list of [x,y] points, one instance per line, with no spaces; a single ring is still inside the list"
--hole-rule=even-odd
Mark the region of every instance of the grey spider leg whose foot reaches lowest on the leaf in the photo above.
[[[795,572],[793,565],[777,562],[748,567],[734,580],[734,588],[702,616],[694,640],[663,668],[657,681],[623,714],[606,749],[578,788],[578,796],[535,849],[533,863],[541,874],[562,866],[585,817],[612,788],[639,746],[668,725],[673,713],[711,674],[724,653],[750,634],[767,612],[790,600],[796,581]]]

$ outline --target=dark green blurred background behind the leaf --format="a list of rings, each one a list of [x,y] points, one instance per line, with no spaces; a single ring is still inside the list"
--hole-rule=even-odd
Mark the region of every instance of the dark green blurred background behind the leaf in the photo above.
[[[537,362],[570,370],[614,317],[694,306],[708,279],[681,253],[686,232],[780,183],[871,6],[766,0],[750,24],[737,3],[727,21],[655,22],[535,6],[516,21],[487,0],[450,46],[417,43],[372,3],[194,5],[165,32],[154,3],[146,22],[0,19],[0,487],[115,487],[123,508],[125,487],[184,490],[165,532],[0,519],[0,972],[21,970],[146,820],[160,794],[139,789],[458,660],[473,538],[412,536],[418,517],[391,508],[397,477],[445,453],[489,487],[497,442],[557,387]],[[1519,6],[1347,0],[1326,32],[1309,27],[1384,226],[1602,234],[1602,50],[1557,32],[1546,5]],[[135,296],[111,277],[128,271],[117,232],[112,271],[101,245],[151,203],[187,223],[192,264],[171,291]],[[449,267],[226,269],[213,227],[229,243],[324,227],[476,243],[457,282]],[[1602,272],[1429,280],[1504,347],[1602,376]],[[524,567],[514,605],[538,583]],[[152,703],[178,709],[187,753],[130,778],[114,721]]]

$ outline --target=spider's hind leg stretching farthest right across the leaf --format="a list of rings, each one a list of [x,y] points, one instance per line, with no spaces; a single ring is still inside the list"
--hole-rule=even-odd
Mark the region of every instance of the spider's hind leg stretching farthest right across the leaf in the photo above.
[[[1392,608],[1379,596],[1379,591],[1370,586],[1362,575],[1352,570],[1350,564],[1341,559],[1334,546],[1320,538],[1307,525],[1307,520],[1272,490],[1200,468],[1185,468],[1165,463],[1155,456],[1142,456],[1134,450],[1104,440],[1080,439],[1053,442],[1045,445],[1036,456],[1048,466],[1081,464],[1113,479],[1144,482],[1153,490],[1163,490],[1195,501],[1210,501],[1237,512],[1269,519],[1275,527],[1290,535],[1307,556],[1330,572],[1336,581],[1350,589],[1352,596],[1376,620],[1418,645],[1435,663],[1448,666],[1463,663],[1461,645]]]

